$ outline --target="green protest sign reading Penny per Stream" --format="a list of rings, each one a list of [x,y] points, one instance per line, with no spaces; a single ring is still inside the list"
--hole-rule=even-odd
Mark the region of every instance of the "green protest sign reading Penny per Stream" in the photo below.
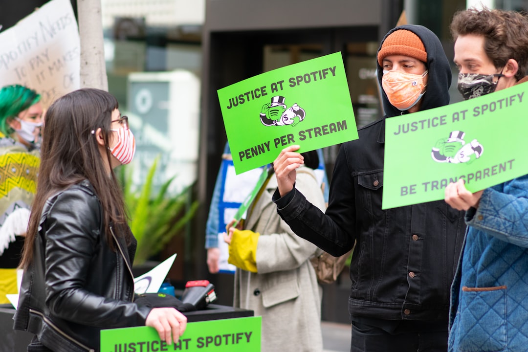
[[[357,139],[341,53],[259,74],[218,90],[235,172]]]

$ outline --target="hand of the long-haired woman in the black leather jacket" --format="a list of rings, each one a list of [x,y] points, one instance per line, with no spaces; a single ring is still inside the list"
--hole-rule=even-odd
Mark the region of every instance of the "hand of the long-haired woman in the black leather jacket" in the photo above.
[[[173,340],[177,343],[185,332],[187,317],[175,308],[153,308],[148,313],[145,325],[156,329],[159,339],[171,345]]]

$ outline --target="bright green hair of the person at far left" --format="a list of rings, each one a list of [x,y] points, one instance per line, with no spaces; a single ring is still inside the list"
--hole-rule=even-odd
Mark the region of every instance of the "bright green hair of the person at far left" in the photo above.
[[[6,136],[14,130],[7,123],[40,100],[40,94],[20,84],[6,85],[0,90],[0,132]]]

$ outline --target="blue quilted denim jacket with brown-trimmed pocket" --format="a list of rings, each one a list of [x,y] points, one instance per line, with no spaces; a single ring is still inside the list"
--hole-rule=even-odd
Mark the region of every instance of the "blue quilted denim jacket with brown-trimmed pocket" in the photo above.
[[[528,350],[528,175],[487,188],[451,287],[449,351]]]

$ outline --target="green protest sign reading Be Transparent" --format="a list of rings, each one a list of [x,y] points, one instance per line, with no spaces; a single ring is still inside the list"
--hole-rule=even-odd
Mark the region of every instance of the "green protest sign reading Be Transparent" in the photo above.
[[[528,174],[528,83],[386,119],[383,209],[444,199]]]

